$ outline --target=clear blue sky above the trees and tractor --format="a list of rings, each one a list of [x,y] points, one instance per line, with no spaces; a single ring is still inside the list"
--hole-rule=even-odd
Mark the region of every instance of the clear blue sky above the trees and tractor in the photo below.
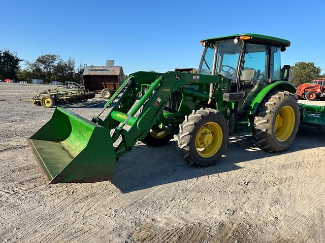
[[[203,38],[261,33],[289,39],[282,65],[325,72],[323,1],[1,1],[0,49],[76,64],[114,59],[126,74],[198,67]]]

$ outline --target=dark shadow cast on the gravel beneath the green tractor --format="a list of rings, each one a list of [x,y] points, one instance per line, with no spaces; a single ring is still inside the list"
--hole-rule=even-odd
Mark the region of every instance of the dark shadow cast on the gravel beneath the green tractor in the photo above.
[[[240,170],[238,163],[293,153],[308,148],[325,146],[325,131],[301,126],[294,143],[281,153],[268,153],[256,148],[251,136],[233,137],[228,144],[226,156],[216,165],[207,168],[189,166],[178,154],[176,142],[163,147],[139,144],[123,155],[116,163],[111,181],[122,193],[151,188],[186,179]],[[240,152],[238,152],[240,151]],[[261,167],[266,166],[259,161]]]

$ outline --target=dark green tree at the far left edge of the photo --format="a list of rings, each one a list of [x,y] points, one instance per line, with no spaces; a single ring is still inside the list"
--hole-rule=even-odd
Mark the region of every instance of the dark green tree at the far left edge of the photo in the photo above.
[[[16,79],[19,71],[19,63],[22,59],[13,55],[9,51],[0,50],[0,79],[10,78]]]

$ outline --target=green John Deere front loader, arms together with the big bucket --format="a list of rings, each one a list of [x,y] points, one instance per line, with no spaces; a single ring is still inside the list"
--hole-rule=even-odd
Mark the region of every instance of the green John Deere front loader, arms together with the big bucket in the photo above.
[[[30,147],[51,183],[110,180],[116,160],[142,140],[159,117],[167,120],[166,124],[170,120],[169,126],[175,127],[199,102],[209,99],[205,89],[209,84],[215,85],[215,97],[228,89],[228,79],[221,75],[133,73],[92,121],[57,107],[48,123],[30,137]],[[142,92],[143,85],[148,87],[146,92]],[[179,107],[182,112],[165,116],[168,97],[175,91],[182,94]],[[218,102],[223,101],[216,99]],[[104,111],[111,106],[102,119]],[[140,114],[136,115],[137,112]]]

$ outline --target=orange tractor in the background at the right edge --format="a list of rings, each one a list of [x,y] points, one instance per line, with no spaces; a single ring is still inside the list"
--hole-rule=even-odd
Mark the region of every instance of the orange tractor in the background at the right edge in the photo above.
[[[316,100],[325,97],[325,78],[314,79],[312,82],[297,87],[299,99]]]

